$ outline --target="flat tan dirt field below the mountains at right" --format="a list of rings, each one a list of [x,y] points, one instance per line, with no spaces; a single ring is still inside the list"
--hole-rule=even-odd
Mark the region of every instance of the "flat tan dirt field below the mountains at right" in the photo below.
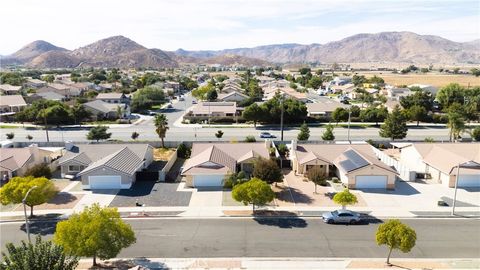
[[[360,73],[360,75],[365,75],[365,77],[373,77],[377,75],[382,77],[386,83],[391,85],[410,85],[410,84],[429,84],[436,87],[443,87],[449,83],[458,83],[465,87],[469,86],[480,86],[480,77],[475,77],[472,75],[461,75],[461,74],[393,74],[390,72],[382,73]]]

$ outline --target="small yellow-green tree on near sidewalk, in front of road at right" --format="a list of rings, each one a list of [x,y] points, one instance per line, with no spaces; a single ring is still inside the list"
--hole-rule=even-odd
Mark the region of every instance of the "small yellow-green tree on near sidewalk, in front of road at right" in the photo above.
[[[393,249],[398,249],[407,253],[415,246],[417,234],[415,230],[403,224],[398,219],[391,219],[378,226],[375,235],[377,245],[387,245],[389,247],[387,264],[390,265],[390,255]]]

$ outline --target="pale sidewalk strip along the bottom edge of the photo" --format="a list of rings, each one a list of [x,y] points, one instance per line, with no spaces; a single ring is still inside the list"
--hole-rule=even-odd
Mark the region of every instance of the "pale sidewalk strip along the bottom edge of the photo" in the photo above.
[[[391,258],[137,258],[100,262],[117,269],[478,269],[480,259]],[[77,269],[91,269],[82,259]]]

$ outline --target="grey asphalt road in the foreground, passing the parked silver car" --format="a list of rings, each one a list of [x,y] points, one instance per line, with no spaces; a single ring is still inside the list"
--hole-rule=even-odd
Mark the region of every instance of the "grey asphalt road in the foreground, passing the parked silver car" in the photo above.
[[[329,225],[319,219],[141,219],[128,220],[137,242],[118,257],[358,257],[382,258],[379,222]],[[471,219],[403,220],[416,230],[410,253],[394,257],[478,258],[480,223]],[[26,238],[23,223],[1,224],[1,246]],[[23,228],[23,227],[22,227]],[[34,224],[33,232],[51,237],[54,223]]]

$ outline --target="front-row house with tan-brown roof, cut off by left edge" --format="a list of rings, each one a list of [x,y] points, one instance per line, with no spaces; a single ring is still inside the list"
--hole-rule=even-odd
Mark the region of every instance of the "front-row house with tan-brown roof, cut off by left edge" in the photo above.
[[[31,144],[23,148],[0,148],[0,177],[10,179],[23,174],[31,167],[50,164],[62,155],[63,147],[38,147]]]

